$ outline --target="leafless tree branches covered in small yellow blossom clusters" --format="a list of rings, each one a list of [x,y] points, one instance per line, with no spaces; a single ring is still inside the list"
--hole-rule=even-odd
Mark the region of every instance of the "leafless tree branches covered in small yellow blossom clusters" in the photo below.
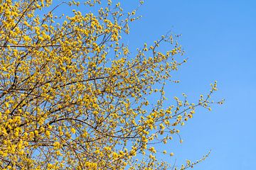
[[[96,0],[85,5],[100,6],[97,13],[56,16],[57,8],[79,2],[0,2],[1,169],[171,167],[156,159],[155,144],[178,134],[196,107],[209,108],[216,90],[213,84],[197,104],[184,94],[185,101],[175,97],[176,105],[164,108],[164,84],[186,62],[176,60],[183,55],[178,35],[131,55],[121,35],[137,10]],[[171,50],[159,51],[162,43]],[[151,95],[159,100],[149,105]]]

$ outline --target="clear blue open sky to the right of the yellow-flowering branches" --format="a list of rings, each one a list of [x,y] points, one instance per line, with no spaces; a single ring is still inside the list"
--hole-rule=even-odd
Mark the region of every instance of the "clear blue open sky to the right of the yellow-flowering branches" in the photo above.
[[[123,4],[130,8],[136,3]],[[181,128],[183,144],[169,144],[174,159],[199,159],[212,149],[194,169],[255,169],[256,1],[145,1],[139,14],[143,18],[132,25],[130,47],[168,30],[182,34],[189,60],[174,75],[181,83],[167,86],[169,98],[185,92],[193,101],[214,80],[219,89],[214,98],[225,98],[223,106],[198,111]]]

